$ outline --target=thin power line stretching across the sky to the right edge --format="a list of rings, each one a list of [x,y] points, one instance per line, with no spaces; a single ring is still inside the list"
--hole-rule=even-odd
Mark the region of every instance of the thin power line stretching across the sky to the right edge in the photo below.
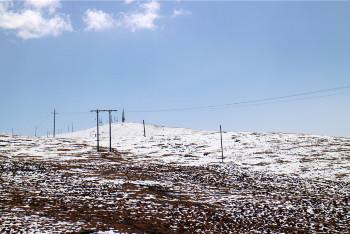
[[[129,112],[154,113],[154,112],[177,112],[177,111],[191,111],[191,110],[201,110],[201,109],[229,108],[232,106],[245,105],[245,104],[265,104],[266,102],[273,102],[273,101],[279,101],[279,102],[290,101],[288,99],[296,98],[296,97],[304,97],[305,99],[319,98],[319,97],[315,97],[315,96],[311,96],[311,95],[330,93],[330,92],[334,92],[334,91],[348,90],[348,89],[350,89],[350,86],[336,87],[336,88],[330,88],[330,89],[320,89],[320,90],[314,90],[314,91],[309,91],[309,92],[289,94],[289,95],[284,95],[284,96],[252,99],[252,100],[238,101],[238,102],[218,104],[218,105],[192,106],[192,107],[179,107],[179,108],[153,109],[153,110],[130,110]],[[328,94],[327,96],[334,96],[334,95],[339,95],[339,94],[344,94],[344,93],[335,93],[335,94],[333,93],[333,94]]]

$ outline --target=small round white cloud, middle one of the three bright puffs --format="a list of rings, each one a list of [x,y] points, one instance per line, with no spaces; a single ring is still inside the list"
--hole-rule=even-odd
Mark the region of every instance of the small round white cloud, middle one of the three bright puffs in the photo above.
[[[101,10],[88,9],[85,11],[83,21],[86,24],[85,30],[89,31],[101,31],[115,25],[113,17]]]

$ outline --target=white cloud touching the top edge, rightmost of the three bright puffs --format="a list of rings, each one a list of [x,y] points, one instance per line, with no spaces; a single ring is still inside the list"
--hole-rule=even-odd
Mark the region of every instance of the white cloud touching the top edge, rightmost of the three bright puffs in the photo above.
[[[124,13],[120,21],[121,26],[124,26],[131,31],[138,29],[155,29],[155,21],[160,18],[160,4],[157,1],[150,1],[140,5],[140,10],[133,13]]]

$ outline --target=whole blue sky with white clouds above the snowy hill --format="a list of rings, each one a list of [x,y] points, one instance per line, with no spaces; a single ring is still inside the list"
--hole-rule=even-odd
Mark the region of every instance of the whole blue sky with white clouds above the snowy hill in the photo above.
[[[54,108],[62,131],[125,108],[128,121],[350,136],[348,92],[133,112],[348,86],[349,61],[350,2],[1,2],[0,132],[46,135]]]

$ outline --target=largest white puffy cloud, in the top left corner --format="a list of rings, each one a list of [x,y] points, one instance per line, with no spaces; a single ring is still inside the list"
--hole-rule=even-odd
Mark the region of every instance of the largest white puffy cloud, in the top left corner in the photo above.
[[[22,39],[59,36],[65,31],[72,31],[69,16],[53,12],[58,6],[59,1],[54,0],[36,3],[27,0],[21,9],[12,9],[11,2],[0,2],[0,28],[15,31]]]

